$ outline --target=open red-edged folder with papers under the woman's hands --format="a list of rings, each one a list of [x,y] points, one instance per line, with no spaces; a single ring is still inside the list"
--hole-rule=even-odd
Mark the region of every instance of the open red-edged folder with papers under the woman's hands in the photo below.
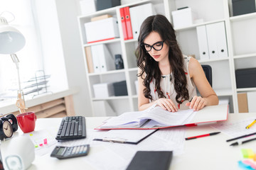
[[[95,130],[111,129],[161,129],[181,125],[210,123],[228,119],[228,105],[206,106],[200,111],[179,110],[172,113],[159,106],[151,106],[145,111],[127,112],[110,118]]]

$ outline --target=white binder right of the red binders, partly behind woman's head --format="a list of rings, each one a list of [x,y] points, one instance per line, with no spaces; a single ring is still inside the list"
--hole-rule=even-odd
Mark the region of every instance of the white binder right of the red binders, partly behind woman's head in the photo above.
[[[139,37],[139,29],[142,26],[143,21],[148,16],[154,15],[154,8],[153,5],[149,3],[129,8],[129,13],[132,23],[133,38],[137,39]]]

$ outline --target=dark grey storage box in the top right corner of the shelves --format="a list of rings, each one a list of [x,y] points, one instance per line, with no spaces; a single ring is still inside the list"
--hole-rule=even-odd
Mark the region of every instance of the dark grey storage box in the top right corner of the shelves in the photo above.
[[[232,0],[233,16],[239,16],[246,13],[254,13],[255,0]]]

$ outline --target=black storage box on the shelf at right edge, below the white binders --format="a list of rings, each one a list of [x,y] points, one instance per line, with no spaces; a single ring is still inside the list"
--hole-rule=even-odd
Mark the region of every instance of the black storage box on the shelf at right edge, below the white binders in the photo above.
[[[237,88],[256,87],[256,68],[235,70]]]

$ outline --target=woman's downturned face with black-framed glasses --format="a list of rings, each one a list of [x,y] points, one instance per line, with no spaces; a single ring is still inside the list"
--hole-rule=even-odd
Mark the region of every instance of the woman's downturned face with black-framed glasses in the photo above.
[[[146,51],[149,52],[149,55],[153,57],[156,62],[166,62],[167,60],[169,60],[169,46],[166,45],[165,42],[163,42],[159,33],[152,31],[144,39],[144,47]]]

